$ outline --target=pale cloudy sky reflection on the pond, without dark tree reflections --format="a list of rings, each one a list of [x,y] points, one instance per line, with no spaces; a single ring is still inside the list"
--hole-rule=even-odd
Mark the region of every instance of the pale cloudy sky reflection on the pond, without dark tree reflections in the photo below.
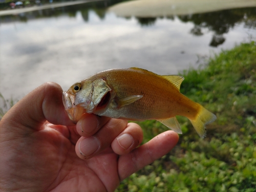
[[[192,23],[175,17],[141,27],[135,18],[93,11],[89,22],[80,12],[3,23],[0,27],[0,93],[20,99],[40,84],[54,81],[67,90],[74,82],[111,68],[140,67],[158,74],[177,74],[197,67],[197,55],[209,55],[248,40],[255,30],[242,24],[230,29],[224,44],[210,48],[213,32],[193,36]]]

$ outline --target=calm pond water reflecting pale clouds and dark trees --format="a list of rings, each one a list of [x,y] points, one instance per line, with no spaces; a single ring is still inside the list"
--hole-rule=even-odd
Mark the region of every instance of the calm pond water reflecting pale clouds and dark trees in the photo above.
[[[197,68],[203,58],[222,49],[255,39],[256,7],[120,17],[108,11],[118,2],[0,16],[0,93],[20,99],[47,81],[67,90],[74,82],[111,68],[177,74]]]

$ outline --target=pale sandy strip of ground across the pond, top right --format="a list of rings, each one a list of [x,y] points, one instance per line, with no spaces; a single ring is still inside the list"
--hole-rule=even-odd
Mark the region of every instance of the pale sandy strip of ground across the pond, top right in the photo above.
[[[255,0],[137,0],[117,4],[109,11],[123,17],[156,17],[255,6]]]

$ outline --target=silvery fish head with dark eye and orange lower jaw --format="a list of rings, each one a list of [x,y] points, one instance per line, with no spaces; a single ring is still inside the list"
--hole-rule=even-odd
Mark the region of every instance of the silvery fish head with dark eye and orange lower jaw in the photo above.
[[[99,110],[109,101],[111,88],[105,80],[84,79],[64,91],[62,94],[63,104],[73,122],[77,122],[82,114],[93,113]],[[108,98],[106,98],[108,96]]]

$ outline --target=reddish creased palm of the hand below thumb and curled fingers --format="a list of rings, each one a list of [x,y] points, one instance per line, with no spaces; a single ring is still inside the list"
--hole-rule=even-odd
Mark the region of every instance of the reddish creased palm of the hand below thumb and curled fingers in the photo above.
[[[15,168],[1,168],[5,180],[15,175],[16,188],[26,187],[24,191],[112,191],[118,186],[118,155],[110,148],[84,161],[75,152],[80,137],[73,131],[75,126],[42,126],[39,131],[28,133],[29,137],[6,142],[6,151],[15,145],[15,153],[7,157]]]

